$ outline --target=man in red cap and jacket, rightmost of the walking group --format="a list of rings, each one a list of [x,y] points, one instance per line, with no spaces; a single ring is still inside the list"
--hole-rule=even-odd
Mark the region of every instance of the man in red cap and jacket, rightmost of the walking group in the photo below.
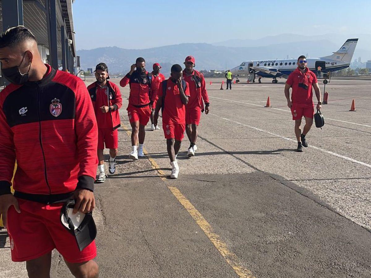
[[[192,157],[197,150],[197,129],[200,124],[201,112],[205,110],[206,115],[209,113],[210,102],[204,76],[194,69],[194,57],[187,56],[184,64],[183,79],[188,83],[190,91],[188,104],[185,106],[185,132],[191,143],[187,150],[187,156]],[[203,102],[205,102],[205,108]]]

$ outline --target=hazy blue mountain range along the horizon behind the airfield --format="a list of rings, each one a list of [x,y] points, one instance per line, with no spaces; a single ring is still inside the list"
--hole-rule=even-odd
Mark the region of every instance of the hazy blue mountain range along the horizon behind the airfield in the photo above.
[[[111,73],[125,74],[137,57],[144,57],[147,70],[151,71],[153,63],[160,63],[163,73],[169,73],[172,64],[181,64],[184,58],[192,55],[196,59],[196,69],[229,69],[246,60],[286,59],[287,56],[298,57],[308,54],[309,57],[321,57],[338,50],[347,35],[301,36],[281,34],[264,37],[258,40],[227,40],[224,42],[182,43],[149,49],[123,49],[119,47],[99,47],[90,50],[78,50],[81,68],[94,68],[96,64],[105,62]],[[362,57],[371,59],[371,36],[360,35],[353,60]],[[370,44],[368,44],[370,43]],[[238,46],[238,47],[236,47]],[[359,46],[363,46],[362,49]]]

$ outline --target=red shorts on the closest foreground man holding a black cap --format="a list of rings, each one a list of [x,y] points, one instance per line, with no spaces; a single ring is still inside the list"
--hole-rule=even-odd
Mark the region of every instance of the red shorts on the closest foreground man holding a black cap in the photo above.
[[[8,233],[12,261],[39,258],[54,248],[67,262],[77,264],[96,257],[95,241],[81,252],[75,237],[60,222],[62,203],[46,205],[17,199],[21,213],[8,210]]]

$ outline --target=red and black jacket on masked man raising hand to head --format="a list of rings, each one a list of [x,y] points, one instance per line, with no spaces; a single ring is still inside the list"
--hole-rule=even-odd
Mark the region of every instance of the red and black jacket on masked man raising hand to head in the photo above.
[[[146,72],[139,74],[136,70],[129,75],[129,73],[120,81],[120,86],[130,86],[129,105],[135,107],[145,107],[150,104],[152,92],[152,74]]]

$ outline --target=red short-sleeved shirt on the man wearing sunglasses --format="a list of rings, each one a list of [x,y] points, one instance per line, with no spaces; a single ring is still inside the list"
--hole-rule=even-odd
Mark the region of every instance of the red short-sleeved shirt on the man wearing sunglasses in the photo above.
[[[299,70],[299,67],[296,68],[292,73],[290,73],[286,84],[290,85],[292,88],[291,93],[291,101],[293,103],[301,103],[301,104],[312,104],[313,105],[313,92],[312,92],[312,85],[317,83],[316,75],[306,68],[303,77],[308,80],[308,89],[304,89],[299,87],[299,80],[301,78],[302,72]]]

